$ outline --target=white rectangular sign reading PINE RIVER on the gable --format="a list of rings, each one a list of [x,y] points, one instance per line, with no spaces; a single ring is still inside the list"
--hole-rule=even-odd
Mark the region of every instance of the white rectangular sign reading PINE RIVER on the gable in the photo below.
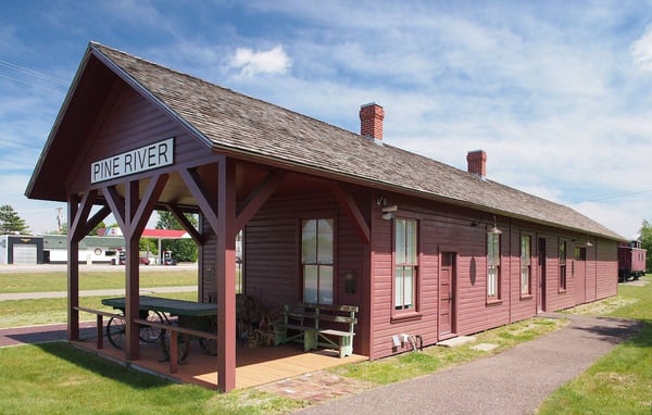
[[[113,155],[90,165],[90,183],[111,180],[174,163],[174,137]]]

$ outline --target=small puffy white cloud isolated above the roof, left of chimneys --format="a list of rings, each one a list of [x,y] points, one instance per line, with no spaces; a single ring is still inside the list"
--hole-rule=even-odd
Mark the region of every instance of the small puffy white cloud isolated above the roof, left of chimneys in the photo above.
[[[253,76],[261,73],[285,74],[291,66],[291,61],[280,45],[267,51],[238,48],[229,66],[240,70],[241,76]]]

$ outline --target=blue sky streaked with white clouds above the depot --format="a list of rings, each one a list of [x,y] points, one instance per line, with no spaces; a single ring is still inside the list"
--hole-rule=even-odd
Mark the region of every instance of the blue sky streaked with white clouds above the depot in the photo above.
[[[652,221],[650,1],[0,2],[0,204],[36,234],[65,206],[24,191],[90,40],[356,133],[377,102],[390,144],[482,149],[626,238]]]

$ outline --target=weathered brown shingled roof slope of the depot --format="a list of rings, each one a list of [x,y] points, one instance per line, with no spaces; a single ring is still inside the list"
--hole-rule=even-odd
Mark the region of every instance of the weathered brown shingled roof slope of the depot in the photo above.
[[[185,122],[216,151],[610,239],[570,208],[95,42],[89,51]]]

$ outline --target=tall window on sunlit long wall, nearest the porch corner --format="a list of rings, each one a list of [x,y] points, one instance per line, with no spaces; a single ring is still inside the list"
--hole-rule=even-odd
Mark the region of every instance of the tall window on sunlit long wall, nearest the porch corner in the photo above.
[[[418,275],[415,219],[394,219],[394,310],[414,310]]]

